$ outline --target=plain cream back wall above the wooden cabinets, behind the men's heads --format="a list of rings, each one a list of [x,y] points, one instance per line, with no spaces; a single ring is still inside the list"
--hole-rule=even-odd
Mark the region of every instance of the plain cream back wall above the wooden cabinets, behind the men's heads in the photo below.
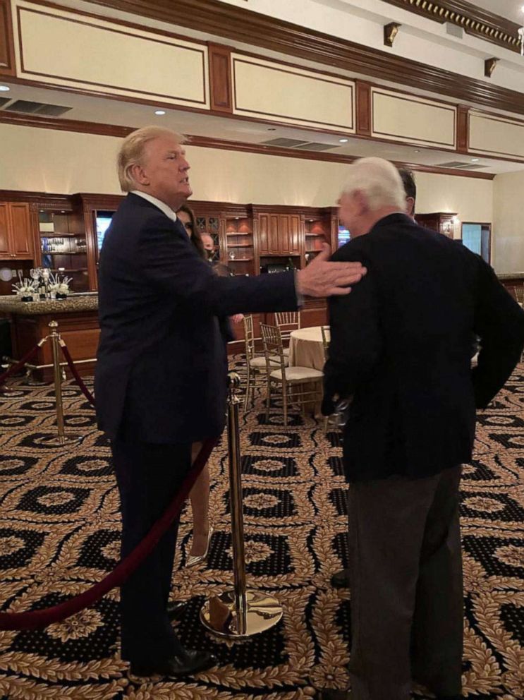
[[[0,143],[0,189],[63,194],[120,193],[114,165],[121,144],[119,138],[0,123]],[[347,166],[341,163],[191,145],[186,150],[194,198],[200,200],[331,206],[336,203],[341,183],[346,178]],[[493,181],[431,173],[416,173],[415,177],[419,212],[456,212],[462,221],[493,221]],[[510,179],[513,176],[500,177]],[[501,191],[505,191],[505,182],[501,181]],[[503,236],[521,230],[518,217],[524,174],[511,182],[508,202],[504,200],[502,209],[511,204],[514,227],[513,224],[506,227],[510,234],[504,234],[503,228]],[[498,236],[496,225],[495,243]],[[505,265],[504,260],[501,264]],[[524,262],[521,269],[524,270]]]

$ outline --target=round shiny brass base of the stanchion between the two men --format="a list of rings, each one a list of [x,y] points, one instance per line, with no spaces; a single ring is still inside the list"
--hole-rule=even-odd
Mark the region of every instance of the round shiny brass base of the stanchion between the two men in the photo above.
[[[267,629],[271,629],[274,625],[281,620],[282,617],[282,606],[279,601],[273,596],[269,596],[268,593],[264,591],[245,591],[246,600],[246,629],[243,634],[238,630],[238,618],[236,615],[235,607],[235,591],[230,589],[229,591],[224,591],[220,596],[217,596],[217,601],[219,605],[224,608],[224,611],[229,610],[229,615],[224,621],[224,617],[221,620],[212,619],[213,616],[210,613],[209,606],[211,601],[207,600],[200,610],[200,621],[209,629],[209,632],[217,634],[218,636],[226,637],[226,639],[246,639],[247,637],[253,636],[254,634],[260,634],[260,632],[265,632]],[[227,610],[226,610],[227,609]]]

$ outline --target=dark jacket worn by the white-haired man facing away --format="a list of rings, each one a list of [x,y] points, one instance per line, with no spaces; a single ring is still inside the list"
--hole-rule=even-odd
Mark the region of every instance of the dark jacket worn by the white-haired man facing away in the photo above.
[[[520,358],[523,310],[478,255],[402,214],[333,259],[369,270],[329,302],[324,394],[353,394],[349,480],[429,476],[469,461],[475,406],[487,406]],[[473,333],[482,350],[472,372]]]

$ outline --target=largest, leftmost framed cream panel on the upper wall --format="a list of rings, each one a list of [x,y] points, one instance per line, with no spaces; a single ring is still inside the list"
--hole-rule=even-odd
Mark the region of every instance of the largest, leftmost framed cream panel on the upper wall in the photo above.
[[[16,1],[18,76],[209,109],[207,47]]]

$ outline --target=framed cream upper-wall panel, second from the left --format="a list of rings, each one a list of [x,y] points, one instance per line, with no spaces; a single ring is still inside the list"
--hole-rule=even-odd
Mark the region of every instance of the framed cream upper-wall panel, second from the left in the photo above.
[[[239,54],[231,61],[235,114],[355,133],[351,80]]]

